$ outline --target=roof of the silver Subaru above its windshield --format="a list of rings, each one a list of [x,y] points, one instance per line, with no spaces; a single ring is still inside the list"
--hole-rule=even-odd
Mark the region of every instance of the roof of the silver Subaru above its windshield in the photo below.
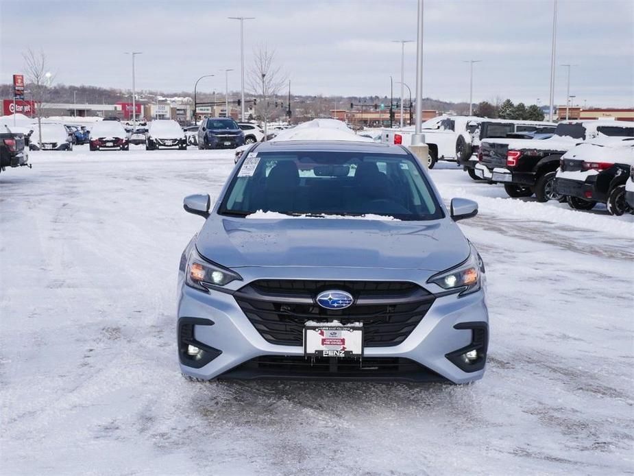
[[[261,142],[256,152],[359,152],[361,154],[400,154],[407,151],[400,145],[355,141],[273,141]]]

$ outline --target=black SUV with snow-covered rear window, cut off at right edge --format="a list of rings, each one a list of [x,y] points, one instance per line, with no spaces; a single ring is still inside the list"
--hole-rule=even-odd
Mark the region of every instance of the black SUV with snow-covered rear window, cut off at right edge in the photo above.
[[[573,209],[600,202],[611,215],[634,213],[625,186],[634,165],[634,138],[610,137],[583,143],[563,154],[554,184]]]

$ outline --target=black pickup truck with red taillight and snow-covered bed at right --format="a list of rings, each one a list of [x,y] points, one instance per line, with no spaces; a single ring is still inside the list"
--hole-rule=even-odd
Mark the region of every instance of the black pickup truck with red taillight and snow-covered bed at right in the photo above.
[[[487,139],[480,144],[474,174],[503,183],[510,197],[530,197],[538,202],[561,200],[554,187],[559,159],[575,145],[597,136],[634,136],[634,125],[625,121],[565,121],[543,141]]]

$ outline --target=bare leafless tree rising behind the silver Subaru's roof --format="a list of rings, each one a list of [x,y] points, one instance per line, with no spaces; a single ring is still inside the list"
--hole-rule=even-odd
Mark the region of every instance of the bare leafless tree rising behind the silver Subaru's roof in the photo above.
[[[247,73],[247,86],[258,97],[255,112],[264,121],[265,134],[267,122],[276,110],[275,96],[286,84],[286,75],[280,66],[276,66],[275,57],[275,49],[269,49],[266,44],[260,45],[254,50],[254,61]]]

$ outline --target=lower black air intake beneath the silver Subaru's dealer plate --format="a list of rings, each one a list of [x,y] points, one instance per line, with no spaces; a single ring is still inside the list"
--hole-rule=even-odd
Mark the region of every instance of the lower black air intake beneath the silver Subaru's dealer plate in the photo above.
[[[329,357],[256,357],[223,374],[234,379],[387,379],[389,381],[443,381],[428,368],[410,359],[398,357],[364,357],[333,359]]]

